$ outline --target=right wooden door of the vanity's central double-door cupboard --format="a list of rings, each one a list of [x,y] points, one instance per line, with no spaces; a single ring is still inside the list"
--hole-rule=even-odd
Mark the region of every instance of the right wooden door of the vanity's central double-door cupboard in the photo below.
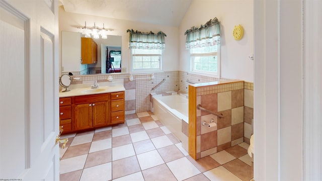
[[[108,125],[108,101],[94,103],[93,106],[93,126]]]

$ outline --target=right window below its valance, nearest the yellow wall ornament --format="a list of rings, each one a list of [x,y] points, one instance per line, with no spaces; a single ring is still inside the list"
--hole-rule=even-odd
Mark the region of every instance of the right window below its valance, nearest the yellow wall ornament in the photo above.
[[[207,73],[215,77],[220,76],[220,61],[218,57],[218,45],[191,48],[191,70],[193,72]]]

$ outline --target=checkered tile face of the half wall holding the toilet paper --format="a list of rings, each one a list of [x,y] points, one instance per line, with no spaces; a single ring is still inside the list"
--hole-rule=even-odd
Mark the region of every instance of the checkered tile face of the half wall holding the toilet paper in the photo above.
[[[222,114],[217,118],[204,111],[197,111],[197,158],[227,149],[244,142],[244,81],[197,88],[197,104],[212,112]],[[249,93],[247,93],[248,96]],[[245,99],[244,99],[245,98]],[[213,119],[216,127],[207,128],[201,122]]]

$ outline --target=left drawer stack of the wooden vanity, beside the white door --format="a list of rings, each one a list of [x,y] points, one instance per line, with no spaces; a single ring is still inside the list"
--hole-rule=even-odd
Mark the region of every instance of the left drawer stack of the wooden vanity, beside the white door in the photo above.
[[[71,98],[59,98],[59,126],[63,127],[63,133],[72,131]]]

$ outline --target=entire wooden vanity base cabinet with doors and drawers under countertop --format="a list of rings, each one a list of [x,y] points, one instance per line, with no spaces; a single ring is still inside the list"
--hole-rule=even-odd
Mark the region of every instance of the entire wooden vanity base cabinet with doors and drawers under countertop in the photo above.
[[[62,134],[125,122],[124,92],[60,98],[59,103]]]

